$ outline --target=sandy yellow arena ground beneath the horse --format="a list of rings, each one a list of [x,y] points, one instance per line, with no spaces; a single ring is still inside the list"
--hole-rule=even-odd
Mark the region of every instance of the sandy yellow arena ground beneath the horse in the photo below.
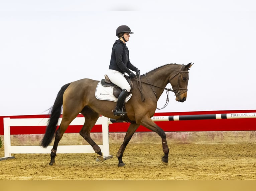
[[[13,154],[0,161],[0,180],[256,180],[256,144],[169,144],[169,165],[161,163],[160,143],[129,143],[118,167],[120,143],[110,143],[113,158],[96,161],[95,153]],[[3,147],[0,156],[4,155]]]

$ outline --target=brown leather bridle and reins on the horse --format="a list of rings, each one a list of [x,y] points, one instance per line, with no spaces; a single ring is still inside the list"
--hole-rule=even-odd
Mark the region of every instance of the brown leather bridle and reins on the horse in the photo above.
[[[152,89],[154,95],[155,95],[156,97],[157,97],[157,95],[156,95],[156,93],[155,93],[155,90],[152,88],[152,86],[154,86],[154,87],[156,87],[156,88],[160,88],[160,89],[166,90],[166,103],[164,104],[164,106],[163,106],[161,109],[165,108],[165,107],[168,105],[168,103],[169,103],[169,91],[170,91],[170,92],[174,92],[175,96],[179,95],[180,92],[181,92],[181,90],[185,90],[185,92],[187,92],[187,89],[186,89],[186,88],[179,88],[181,73],[189,73],[188,71],[182,71],[183,66],[184,66],[184,65],[182,64],[182,65],[181,65],[181,68],[180,68],[180,70],[179,70],[179,72],[178,72],[177,74],[175,74],[174,76],[172,76],[171,78],[169,78],[169,82],[171,83],[171,80],[172,80],[175,76],[178,75],[177,89],[175,89],[175,90],[172,90],[172,89],[170,89],[170,88],[162,88],[162,87],[155,86],[155,85],[151,84],[151,83],[149,82],[149,80],[148,80],[146,74],[145,74],[145,77],[146,77],[147,82],[141,82],[140,76],[138,75],[138,77],[139,77],[139,79],[138,79],[138,78],[137,78],[137,75],[136,75],[137,84],[138,84],[138,83],[140,84],[140,86],[138,85],[138,88],[139,88],[140,93],[141,93],[141,100],[142,100],[142,101],[145,100],[144,97],[143,97],[143,95],[142,95],[141,83],[144,83],[144,84],[149,85],[149,86],[151,87],[151,89]],[[156,108],[157,108],[157,107],[156,107]],[[159,108],[157,108],[157,109],[159,109]],[[160,110],[160,109],[159,109],[159,110]]]

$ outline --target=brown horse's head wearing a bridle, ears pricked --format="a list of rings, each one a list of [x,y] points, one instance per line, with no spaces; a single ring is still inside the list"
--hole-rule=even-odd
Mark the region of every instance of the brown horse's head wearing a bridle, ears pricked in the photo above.
[[[193,63],[194,64],[194,63]],[[181,65],[179,71],[169,78],[169,82],[174,90],[176,101],[184,102],[187,97],[188,70],[193,65]]]

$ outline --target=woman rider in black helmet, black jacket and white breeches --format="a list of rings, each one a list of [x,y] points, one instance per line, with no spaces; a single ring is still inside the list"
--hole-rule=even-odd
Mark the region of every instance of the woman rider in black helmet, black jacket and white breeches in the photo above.
[[[130,78],[135,77],[135,74],[132,71],[137,74],[140,73],[139,69],[131,64],[129,50],[125,44],[129,41],[130,34],[132,33],[133,32],[131,32],[131,29],[128,26],[119,26],[116,29],[116,36],[119,39],[115,41],[112,48],[108,77],[112,83],[122,89],[122,92],[117,99],[116,108],[113,110],[115,116],[123,114],[122,107],[125,98],[131,91],[131,87],[125,79],[124,73],[127,73]]]

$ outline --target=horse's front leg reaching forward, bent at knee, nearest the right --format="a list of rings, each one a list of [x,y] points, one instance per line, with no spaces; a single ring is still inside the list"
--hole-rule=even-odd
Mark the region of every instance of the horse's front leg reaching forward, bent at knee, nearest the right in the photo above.
[[[166,134],[164,130],[157,126],[157,124],[155,124],[151,118],[146,116],[141,120],[141,125],[156,132],[162,138],[162,148],[164,153],[164,156],[162,157],[162,163],[164,165],[168,165],[169,148],[167,145]]]

